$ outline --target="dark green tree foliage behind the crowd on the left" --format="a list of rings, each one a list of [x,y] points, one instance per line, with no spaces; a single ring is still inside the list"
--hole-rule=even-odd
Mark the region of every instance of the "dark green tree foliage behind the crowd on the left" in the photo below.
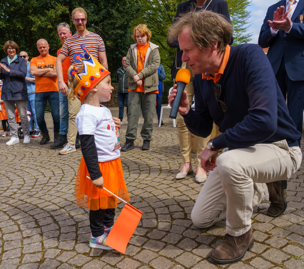
[[[69,23],[74,33],[71,12],[76,7],[84,8],[88,15],[87,29],[100,35],[105,42],[112,75],[121,66],[121,58],[133,42],[130,25],[141,9],[140,0],[1,0],[0,3],[0,46],[13,40],[30,58],[39,55],[36,42],[40,38],[47,39],[50,54],[56,56],[61,47],[57,24]],[[0,56],[5,56],[3,50]]]

